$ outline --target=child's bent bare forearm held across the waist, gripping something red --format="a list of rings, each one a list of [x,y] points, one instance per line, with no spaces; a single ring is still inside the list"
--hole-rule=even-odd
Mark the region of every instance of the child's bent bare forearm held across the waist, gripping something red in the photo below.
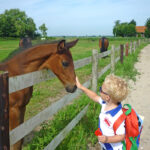
[[[114,136],[98,136],[98,141],[102,143],[117,143],[121,142],[125,139],[125,134],[122,135],[114,135]]]

